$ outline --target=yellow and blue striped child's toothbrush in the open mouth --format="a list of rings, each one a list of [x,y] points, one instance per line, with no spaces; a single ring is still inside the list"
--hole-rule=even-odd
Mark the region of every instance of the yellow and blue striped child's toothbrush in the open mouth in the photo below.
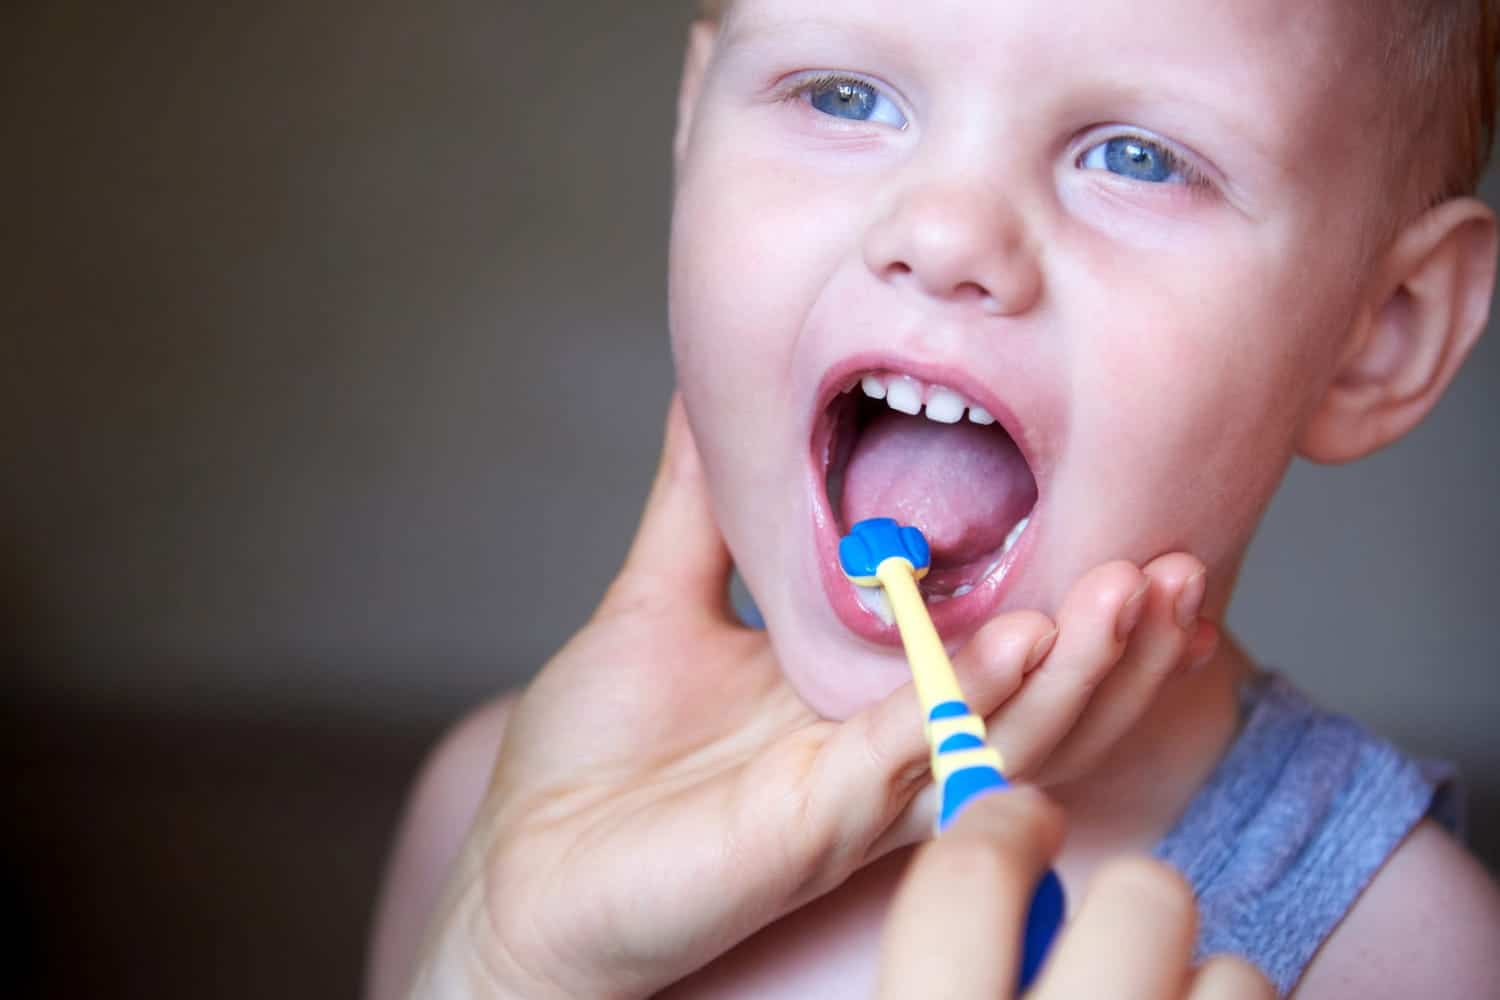
[[[1000,753],[987,741],[984,720],[963,699],[952,663],[927,613],[921,591],[916,589],[916,582],[932,568],[927,538],[916,528],[898,525],[890,517],[872,517],[856,523],[838,543],[838,562],[852,583],[884,588],[891,603],[896,628],[902,633],[906,660],[912,667],[927,745],[932,747],[933,781],[940,801],[940,834],[964,805],[981,795],[1005,789],[1010,783],[1002,774],[1005,765]],[[1062,924],[1065,906],[1062,883],[1048,868],[1026,915],[1020,990],[1026,990],[1041,969]]]

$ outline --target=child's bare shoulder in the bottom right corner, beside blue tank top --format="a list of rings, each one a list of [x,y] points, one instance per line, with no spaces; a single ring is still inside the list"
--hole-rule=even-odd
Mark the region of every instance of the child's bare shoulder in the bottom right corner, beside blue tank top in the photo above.
[[[1312,960],[1294,996],[1500,997],[1500,889],[1431,820],[1418,826]]]

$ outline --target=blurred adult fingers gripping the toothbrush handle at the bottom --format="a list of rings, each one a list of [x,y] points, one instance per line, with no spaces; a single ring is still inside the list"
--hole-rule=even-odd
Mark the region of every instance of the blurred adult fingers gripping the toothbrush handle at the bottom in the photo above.
[[[885,924],[882,999],[1011,997],[1026,907],[1058,852],[1062,817],[1040,792],[1012,787],[969,804],[908,870]],[[1250,964],[1192,967],[1197,909],[1172,868],[1112,862],[1053,943],[1029,1000],[1270,1000]]]

